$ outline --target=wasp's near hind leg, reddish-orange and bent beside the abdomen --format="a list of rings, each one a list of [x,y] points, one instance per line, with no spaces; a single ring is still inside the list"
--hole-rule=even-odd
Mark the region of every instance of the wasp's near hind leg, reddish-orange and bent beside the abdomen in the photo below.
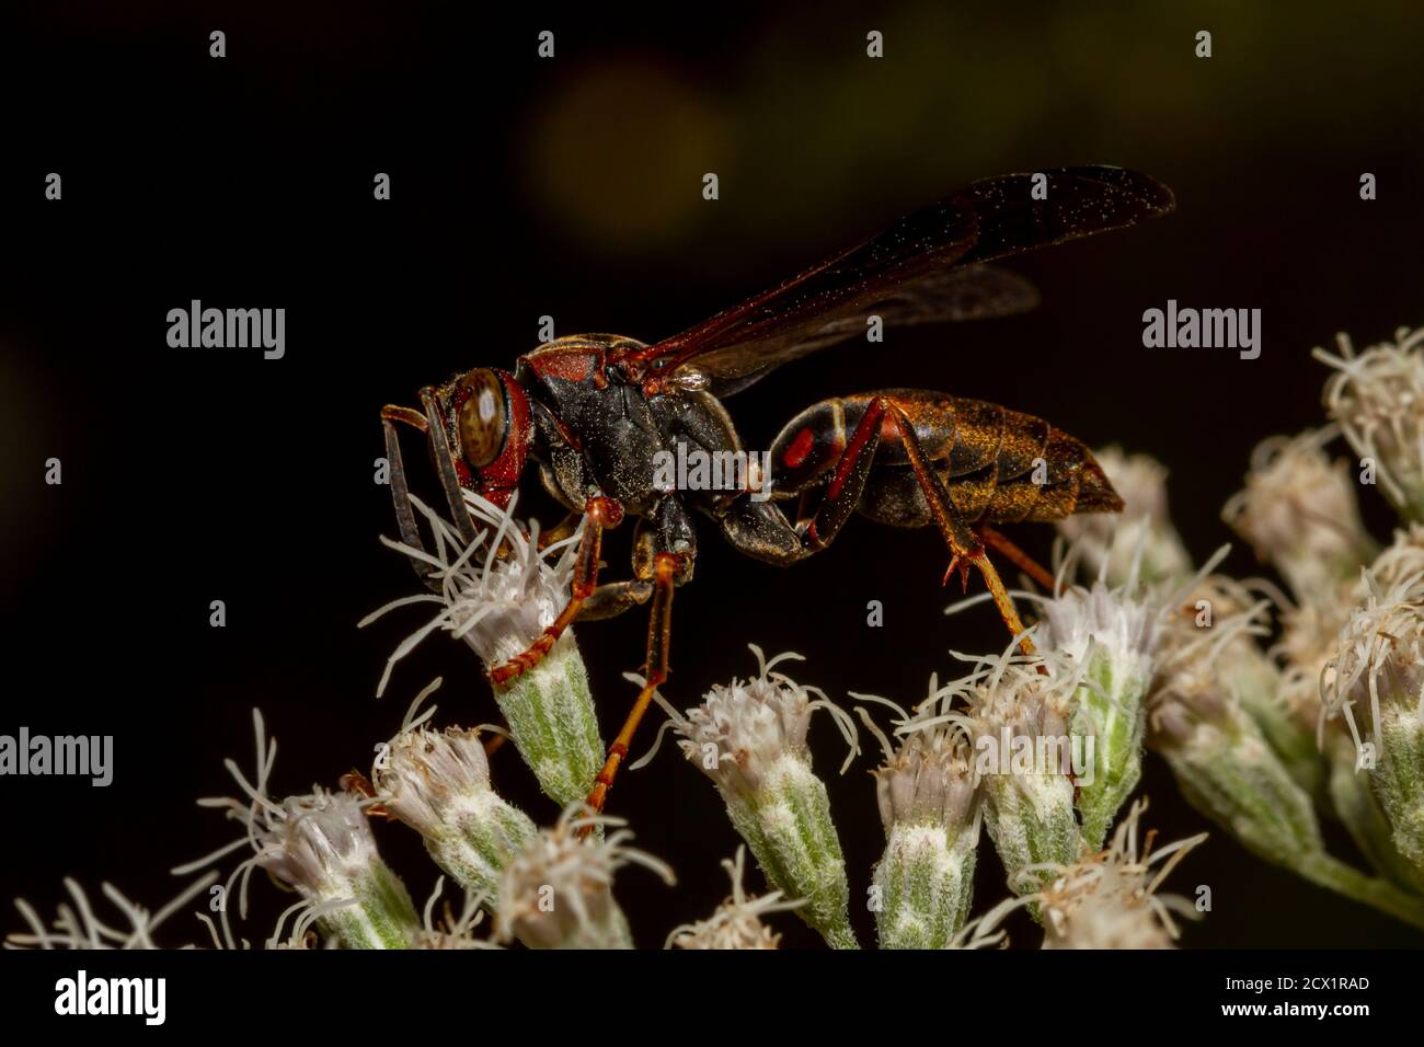
[[[950,547],[950,567],[944,573],[944,580],[948,581],[958,570],[967,584],[970,567],[977,568],[1010,635],[1018,640],[1024,654],[1032,654],[1034,645],[1024,635],[1024,623],[988,558],[985,543],[954,507],[944,481],[930,466],[906,406],[890,395],[869,397],[853,434],[844,440],[842,403],[833,400],[827,405],[832,424],[824,427],[824,432],[817,432],[813,426],[800,427],[795,436],[778,440],[778,452],[773,452],[772,457],[773,469],[782,470],[787,480],[783,497],[787,487],[792,491],[807,487],[810,493],[810,481],[816,481],[823,484],[819,500],[803,496],[802,511],[793,528],[780,509],[772,503],[740,499],[722,519],[722,530],[728,540],[753,557],[782,564],[819,553],[836,538],[846,520],[860,506],[881,442],[899,440],[916,483],[928,503],[930,517]],[[827,472],[829,480],[824,479]],[[773,477],[773,497],[778,483]],[[994,536],[993,544],[997,546],[997,538],[1001,536],[997,533]]]

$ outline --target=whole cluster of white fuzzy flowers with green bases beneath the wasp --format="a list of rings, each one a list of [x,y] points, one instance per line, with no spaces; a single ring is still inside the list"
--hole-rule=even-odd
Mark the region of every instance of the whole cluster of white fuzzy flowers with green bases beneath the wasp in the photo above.
[[[1179,920],[1209,909],[1209,892],[1199,886],[1193,902],[1159,887],[1206,833],[1162,848],[1141,836],[1146,805],[1135,796],[1151,752],[1205,819],[1260,859],[1424,927],[1424,332],[1360,355],[1341,336],[1339,355],[1317,356],[1334,369],[1327,427],[1265,440],[1223,511],[1283,588],[1219,573],[1226,548],[1195,568],[1168,511],[1166,469],[1108,449],[1096,457],[1124,497],[1122,517],[1062,521],[1057,575],[1028,571],[1052,581],[1048,591],[1012,594],[1031,611],[1024,635],[993,655],[950,651],[964,674],[944,685],[931,677],[911,708],[850,692],[860,702],[852,715],[787,674],[800,655],[769,660],[756,645],[752,677],[715,684],[691,708],[654,692],[668,718],[629,769],[672,732],[745,843],[723,862],[731,895],[665,946],[775,949],[776,922],[793,912],[832,947],[859,947],[857,892],[813,761],[816,712],[844,738],[842,773],[862,755],[857,718],[881,751],[863,795],[884,833],[866,890],[883,949],[1002,944],[1005,920],[1027,924],[1022,913],[1048,949],[1173,947]],[[1331,457],[1337,434],[1360,456],[1358,473]],[[1383,551],[1361,523],[1356,477],[1377,483],[1401,517]],[[572,631],[557,642],[548,631],[568,617],[582,531],[545,547],[537,524],[466,493],[476,527],[466,541],[414,506],[433,551],[386,544],[431,591],[362,624],[407,605],[430,604],[434,615],[399,642],[377,697],[402,658],[447,632],[500,681],[493,697],[507,726],[437,728],[436,708],[422,711],[437,679],[376,746],[369,779],[353,771],[337,789],[283,796],[271,791],[276,742],[253,711],[255,772],[226,761],[238,795],[199,801],[235,821],[239,838],[172,870],[241,855],[225,877],[201,875],[152,915],[105,883],[127,922],[118,927],[66,880],[71,900],[48,924],[17,902],[27,929],[7,946],[152,949],[155,932],[206,895],[216,920],[198,919],[212,944],[248,947],[231,903],[246,920],[258,870],[295,893],[261,939],[268,949],[634,946],[615,880],[629,866],[675,877],[631,846],[624,821],[585,803],[605,751]],[[592,551],[582,548],[585,560]],[[1024,638],[1032,654],[1021,652]],[[511,660],[520,674],[491,672]],[[496,791],[488,752],[506,738],[558,802],[553,825]],[[619,738],[617,758],[625,745]],[[439,869],[420,913],[380,853],[382,819],[419,833]],[[1329,853],[1326,819],[1344,826],[1368,872]],[[984,835],[1011,896],[971,916]],[[748,852],[765,890],[748,887]],[[447,879],[461,900],[444,900]]]

